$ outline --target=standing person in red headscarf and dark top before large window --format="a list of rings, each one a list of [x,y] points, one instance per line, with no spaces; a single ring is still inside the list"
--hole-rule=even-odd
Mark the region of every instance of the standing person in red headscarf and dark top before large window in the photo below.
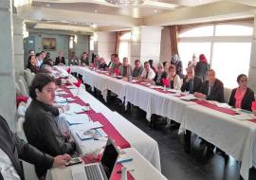
[[[202,81],[206,80],[206,73],[210,69],[210,64],[204,54],[200,54],[199,62],[194,67],[194,75],[201,78]]]

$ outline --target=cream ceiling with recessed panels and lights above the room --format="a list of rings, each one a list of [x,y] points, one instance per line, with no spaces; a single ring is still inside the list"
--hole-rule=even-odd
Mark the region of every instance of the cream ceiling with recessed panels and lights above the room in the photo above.
[[[29,8],[18,11],[30,28],[93,32],[247,17],[255,8],[256,0],[144,0],[136,6],[105,0],[32,0]]]

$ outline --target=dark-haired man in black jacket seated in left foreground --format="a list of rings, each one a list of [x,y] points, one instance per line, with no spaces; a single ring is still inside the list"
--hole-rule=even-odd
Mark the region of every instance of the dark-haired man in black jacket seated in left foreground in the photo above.
[[[53,77],[40,73],[31,83],[29,96],[32,101],[27,108],[24,131],[27,141],[37,149],[52,156],[74,154],[76,143],[63,135],[52,113],[56,82]],[[38,177],[46,175],[42,167],[35,167]]]

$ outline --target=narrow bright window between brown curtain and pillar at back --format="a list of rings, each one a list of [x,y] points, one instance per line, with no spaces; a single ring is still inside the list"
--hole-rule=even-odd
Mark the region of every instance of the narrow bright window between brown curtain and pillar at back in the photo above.
[[[131,32],[125,32],[120,35],[119,39],[119,60],[122,62],[124,57],[128,58],[130,63],[130,40]]]

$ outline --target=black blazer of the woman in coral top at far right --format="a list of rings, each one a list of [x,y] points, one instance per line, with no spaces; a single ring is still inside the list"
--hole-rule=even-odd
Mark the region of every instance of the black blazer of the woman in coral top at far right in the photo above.
[[[237,88],[233,89],[229,98],[229,105],[235,106],[236,99],[234,98]],[[245,109],[247,111],[251,111],[251,102],[254,101],[254,92],[247,87],[247,92],[245,94],[245,97],[242,99],[241,102],[241,108]]]

